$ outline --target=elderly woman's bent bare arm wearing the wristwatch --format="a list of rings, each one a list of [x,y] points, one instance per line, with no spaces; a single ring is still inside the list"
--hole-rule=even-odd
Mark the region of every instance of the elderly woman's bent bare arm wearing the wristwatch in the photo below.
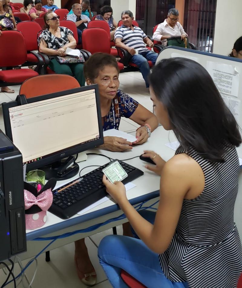
[[[151,132],[154,131],[159,124],[157,117],[141,104],[138,105],[135,112],[130,116],[129,119],[135,121],[139,125],[148,124],[151,128]],[[137,129],[136,138],[137,141],[135,144],[142,144],[147,141],[149,135],[145,127],[140,127]]]

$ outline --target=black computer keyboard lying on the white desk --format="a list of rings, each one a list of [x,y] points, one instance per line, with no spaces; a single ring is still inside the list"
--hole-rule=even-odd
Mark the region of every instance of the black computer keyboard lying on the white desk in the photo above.
[[[143,171],[123,161],[118,161],[128,174],[128,177],[122,181],[124,184],[144,174]],[[67,219],[77,214],[77,212],[81,211],[87,206],[107,196],[106,187],[103,185],[102,181],[102,170],[112,162],[109,162],[102,167],[99,167],[81,176],[81,178],[83,179],[80,182],[75,183],[60,192],[57,191],[66,187],[68,183],[54,190],[53,203],[48,211],[62,219]],[[75,180],[70,182],[69,184],[74,182]]]

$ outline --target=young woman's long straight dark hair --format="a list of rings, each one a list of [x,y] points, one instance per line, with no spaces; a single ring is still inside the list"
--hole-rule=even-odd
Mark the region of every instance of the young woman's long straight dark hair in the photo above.
[[[164,59],[153,67],[149,80],[184,149],[224,162],[226,147],[241,144],[234,116],[200,64],[185,58]]]

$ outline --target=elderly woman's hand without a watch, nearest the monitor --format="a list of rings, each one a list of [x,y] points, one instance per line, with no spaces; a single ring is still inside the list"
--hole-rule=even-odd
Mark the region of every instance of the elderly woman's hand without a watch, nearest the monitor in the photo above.
[[[113,152],[121,152],[125,150],[132,149],[132,142],[127,141],[127,139],[114,137],[114,136],[105,136],[104,137],[104,146],[107,150]]]

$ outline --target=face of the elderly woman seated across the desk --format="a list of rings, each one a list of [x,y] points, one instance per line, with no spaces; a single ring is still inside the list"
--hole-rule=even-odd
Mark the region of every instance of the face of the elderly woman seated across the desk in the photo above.
[[[92,84],[98,84],[101,97],[113,99],[119,88],[119,74],[117,69],[113,66],[104,66]]]

